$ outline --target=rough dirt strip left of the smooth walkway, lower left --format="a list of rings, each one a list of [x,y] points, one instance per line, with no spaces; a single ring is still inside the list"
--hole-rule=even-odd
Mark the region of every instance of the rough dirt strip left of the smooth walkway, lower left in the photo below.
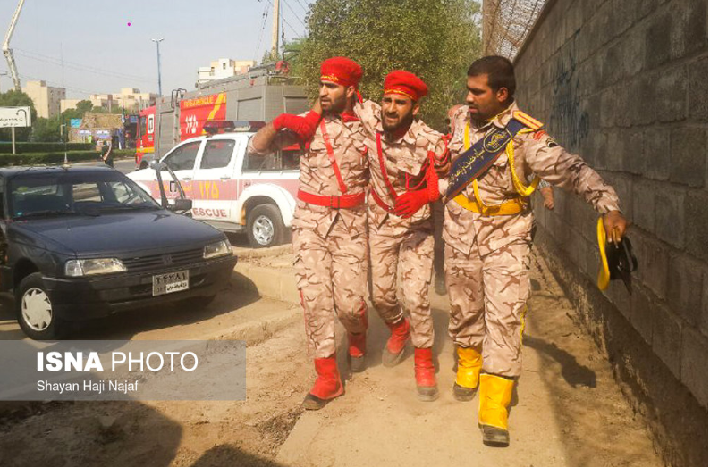
[[[0,410],[0,465],[273,465],[268,459],[275,456],[300,415],[310,365],[302,347],[300,310],[269,300],[256,304],[241,312],[271,313],[269,323],[282,320],[287,327],[274,334],[268,326],[261,334],[232,327],[213,336],[246,338],[250,344],[246,401],[12,404]],[[218,316],[208,321],[206,329],[234,318]],[[258,317],[252,316],[252,321],[259,322]],[[239,329],[251,330],[242,336]],[[147,329],[134,338],[166,335],[190,338],[180,325],[172,333]],[[266,340],[260,342],[259,336]]]

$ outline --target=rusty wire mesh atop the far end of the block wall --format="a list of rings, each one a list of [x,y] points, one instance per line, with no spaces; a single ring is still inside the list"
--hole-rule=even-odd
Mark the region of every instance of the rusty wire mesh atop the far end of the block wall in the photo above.
[[[512,59],[545,0],[483,0],[483,52]]]

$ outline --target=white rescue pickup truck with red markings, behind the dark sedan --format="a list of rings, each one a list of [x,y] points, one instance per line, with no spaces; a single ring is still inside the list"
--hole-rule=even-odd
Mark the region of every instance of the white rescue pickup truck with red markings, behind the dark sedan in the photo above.
[[[227,132],[190,138],[161,159],[192,200],[192,217],[227,232],[246,232],[256,248],[283,242],[291,228],[299,186],[299,148],[249,156],[249,138],[263,122],[234,121]],[[160,199],[156,171],[133,171],[128,177]],[[165,194],[178,197],[167,171]]]

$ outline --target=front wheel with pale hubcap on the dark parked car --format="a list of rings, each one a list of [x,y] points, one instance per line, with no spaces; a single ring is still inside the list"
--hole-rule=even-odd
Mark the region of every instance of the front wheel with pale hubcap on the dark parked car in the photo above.
[[[20,282],[15,294],[17,321],[28,337],[35,340],[60,338],[64,322],[54,312],[42,274],[33,272]]]

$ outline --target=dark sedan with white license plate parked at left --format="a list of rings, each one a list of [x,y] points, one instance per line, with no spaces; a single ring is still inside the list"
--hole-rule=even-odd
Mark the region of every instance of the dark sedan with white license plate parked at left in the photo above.
[[[0,289],[30,338],[141,305],[208,304],[237,262],[224,233],[107,167],[0,169],[0,196]]]

